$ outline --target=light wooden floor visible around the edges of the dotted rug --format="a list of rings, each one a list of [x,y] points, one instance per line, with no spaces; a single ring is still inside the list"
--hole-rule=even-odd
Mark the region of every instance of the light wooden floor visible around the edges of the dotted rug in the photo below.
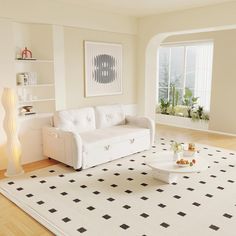
[[[193,131],[158,125],[156,132],[159,136],[169,137],[176,141],[203,143],[221,148],[236,150],[236,137]],[[25,172],[41,169],[57,162],[43,160],[24,166]],[[0,171],[0,179],[4,171]],[[42,225],[20,210],[16,205],[0,194],[0,236],[46,236],[53,235]]]

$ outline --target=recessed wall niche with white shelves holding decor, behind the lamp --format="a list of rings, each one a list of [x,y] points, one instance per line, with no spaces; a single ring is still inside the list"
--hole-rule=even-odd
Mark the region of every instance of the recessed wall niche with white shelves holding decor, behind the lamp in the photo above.
[[[52,113],[56,109],[53,55],[53,27],[50,25],[14,23],[16,84],[19,75],[34,74],[37,79],[27,79],[17,84],[19,110],[32,106],[37,114]],[[42,35],[44,40],[42,39]],[[17,59],[22,49],[31,50],[35,60]],[[37,80],[37,81],[36,81]],[[18,81],[19,82],[19,81]]]

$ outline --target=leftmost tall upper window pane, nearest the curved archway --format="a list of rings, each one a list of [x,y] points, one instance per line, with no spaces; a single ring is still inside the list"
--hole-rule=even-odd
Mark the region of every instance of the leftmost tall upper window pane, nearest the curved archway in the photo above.
[[[159,51],[159,87],[168,87],[169,80],[169,48],[160,48]]]

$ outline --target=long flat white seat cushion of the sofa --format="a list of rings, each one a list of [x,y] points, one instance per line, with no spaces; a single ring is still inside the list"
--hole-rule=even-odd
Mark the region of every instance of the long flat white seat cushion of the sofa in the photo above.
[[[84,132],[80,134],[80,136],[82,138],[84,149],[86,150],[96,146],[106,146],[141,136],[150,136],[150,130],[131,125],[119,125]]]

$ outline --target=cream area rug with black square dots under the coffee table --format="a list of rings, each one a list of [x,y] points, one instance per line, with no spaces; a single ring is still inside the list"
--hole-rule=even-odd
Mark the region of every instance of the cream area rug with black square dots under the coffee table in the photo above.
[[[59,164],[5,179],[0,192],[56,235],[235,235],[236,153],[198,145],[208,170],[165,184],[146,160],[170,141],[80,172]]]

